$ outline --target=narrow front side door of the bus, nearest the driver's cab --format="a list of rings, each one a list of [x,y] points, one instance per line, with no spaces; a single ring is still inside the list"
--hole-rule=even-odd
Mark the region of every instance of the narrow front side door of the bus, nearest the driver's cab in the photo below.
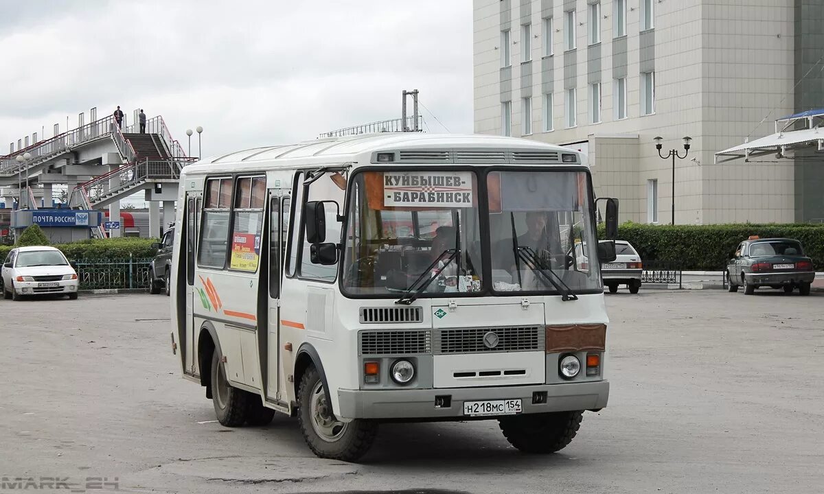
[[[283,374],[280,372],[280,352],[282,342],[280,341],[280,282],[283,275],[283,255],[285,252],[284,241],[287,235],[289,217],[289,198],[279,190],[273,190],[269,194],[269,258],[267,259],[268,269],[266,273],[261,273],[262,280],[268,283],[268,290],[265,297],[265,310],[267,311],[265,345],[259,342],[260,363],[263,381],[265,383],[265,396],[269,403],[288,408],[288,401],[283,394]],[[263,338],[261,338],[263,339]]]

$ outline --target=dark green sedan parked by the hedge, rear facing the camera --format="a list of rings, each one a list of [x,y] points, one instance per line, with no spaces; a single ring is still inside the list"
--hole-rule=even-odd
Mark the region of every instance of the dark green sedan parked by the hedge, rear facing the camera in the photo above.
[[[798,240],[751,236],[738,245],[726,276],[729,291],[742,286],[744,293],[752,295],[760,287],[783,288],[787,293],[798,288],[801,295],[809,295],[816,273]]]

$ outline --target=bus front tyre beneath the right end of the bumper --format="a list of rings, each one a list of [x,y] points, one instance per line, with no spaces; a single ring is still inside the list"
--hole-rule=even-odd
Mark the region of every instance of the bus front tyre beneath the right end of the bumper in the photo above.
[[[509,444],[523,453],[563,450],[581,427],[583,412],[554,412],[502,417],[499,426]]]

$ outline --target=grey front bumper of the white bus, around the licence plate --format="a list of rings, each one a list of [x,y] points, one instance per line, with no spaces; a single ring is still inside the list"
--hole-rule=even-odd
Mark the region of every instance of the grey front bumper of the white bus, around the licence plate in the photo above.
[[[606,407],[609,391],[607,380],[495,388],[339,389],[339,417],[461,420],[471,418],[464,415],[464,402],[517,398],[521,398],[522,413],[598,410]],[[543,393],[545,403],[533,403],[536,398],[543,401]],[[436,407],[445,397],[449,405]]]

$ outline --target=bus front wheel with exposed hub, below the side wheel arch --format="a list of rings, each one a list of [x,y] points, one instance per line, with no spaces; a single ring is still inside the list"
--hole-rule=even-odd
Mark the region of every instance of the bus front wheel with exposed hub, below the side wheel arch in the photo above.
[[[315,366],[303,373],[297,392],[297,422],[309,449],[320,458],[356,461],[372,447],[377,422],[339,422],[326,403],[321,375]]]

